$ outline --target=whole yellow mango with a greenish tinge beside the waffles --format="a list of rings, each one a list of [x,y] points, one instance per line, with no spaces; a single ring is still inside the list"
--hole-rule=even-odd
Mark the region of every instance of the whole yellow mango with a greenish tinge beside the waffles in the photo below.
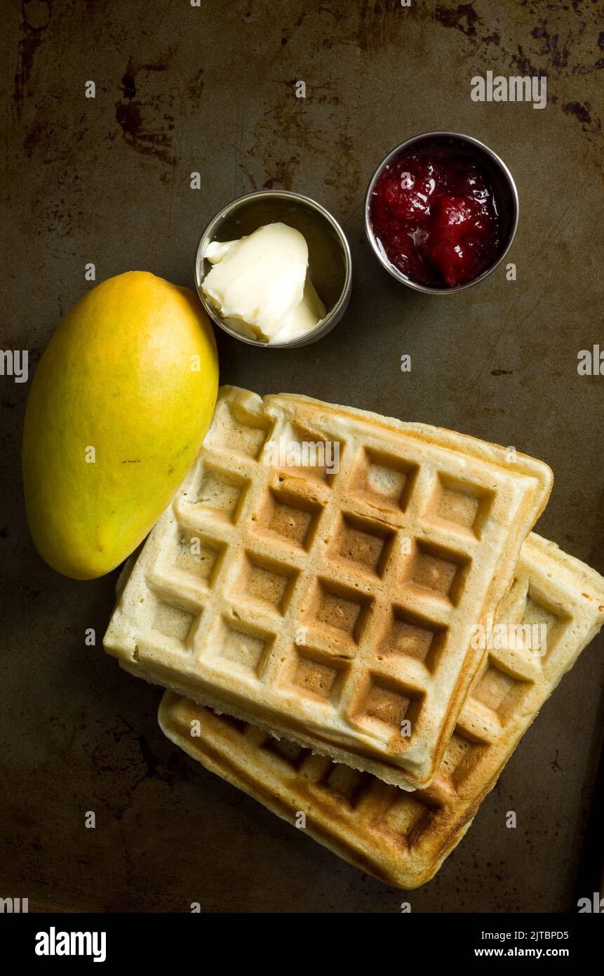
[[[109,278],[65,315],[33,378],[22,442],[29,528],[54,569],[95,579],[137,548],[199,451],[218,380],[201,304],[163,278]]]

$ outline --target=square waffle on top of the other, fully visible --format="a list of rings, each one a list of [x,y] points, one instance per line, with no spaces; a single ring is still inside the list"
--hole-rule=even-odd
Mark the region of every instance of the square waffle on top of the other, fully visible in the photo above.
[[[472,437],[223,387],[105,647],[201,704],[426,785],[482,657],[472,628],[550,487],[541,462]]]

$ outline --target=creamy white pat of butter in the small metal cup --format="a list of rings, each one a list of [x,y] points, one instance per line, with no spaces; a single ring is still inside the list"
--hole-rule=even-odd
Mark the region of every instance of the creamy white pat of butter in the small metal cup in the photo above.
[[[266,224],[237,241],[214,241],[205,257],[213,267],[202,291],[243,336],[287,343],[325,317],[325,305],[307,274],[308,246],[300,230]]]

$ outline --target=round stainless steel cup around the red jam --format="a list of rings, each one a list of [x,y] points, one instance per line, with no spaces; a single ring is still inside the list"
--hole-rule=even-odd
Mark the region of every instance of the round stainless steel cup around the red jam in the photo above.
[[[455,285],[453,288],[448,288],[446,285],[443,285],[442,288],[436,288],[431,285],[422,285],[417,281],[412,281],[410,277],[403,274],[403,272],[395,267],[394,264],[391,264],[388,261],[387,255],[385,254],[381,243],[374,234],[370,211],[376,183],[378,183],[378,180],[382,176],[383,170],[388,163],[393,162],[400,153],[407,151],[412,147],[420,147],[429,144],[442,145],[447,143],[450,145],[459,145],[461,149],[469,148],[477,156],[482,157],[493,181],[498,202],[501,205],[500,216],[503,221],[504,239],[502,252],[495,263],[488,267],[486,271],[483,271],[482,274],[480,274],[477,278],[474,278],[472,281],[467,281],[463,285]],[[509,251],[516,234],[516,227],[518,226],[518,209],[518,191],[516,189],[516,184],[513,181],[511,173],[505,166],[505,163],[502,159],[500,159],[497,153],[493,152],[493,149],[490,149],[488,145],[484,144],[484,142],[478,142],[477,139],[472,139],[471,136],[462,136],[457,132],[426,132],[421,136],[414,136],[412,139],[406,140],[406,142],[401,142],[401,144],[397,145],[396,148],[392,149],[391,152],[388,152],[387,156],[380,163],[380,166],[372,177],[372,181],[367,190],[367,196],[365,197],[365,232],[367,233],[369,243],[371,244],[378,260],[381,264],[383,264],[386,271],[391,274],[393,278],[396,278],[397,281],[401,281],[409,288],[414,288],[417,292],[424,292],[426,295],[452,295],[455,292],[463,292],[465,288],[471,288],[473,285],[477,285],[479,282],[484,281],[485,278],[488,278],[495,268],[503,262],[503,258]]]

